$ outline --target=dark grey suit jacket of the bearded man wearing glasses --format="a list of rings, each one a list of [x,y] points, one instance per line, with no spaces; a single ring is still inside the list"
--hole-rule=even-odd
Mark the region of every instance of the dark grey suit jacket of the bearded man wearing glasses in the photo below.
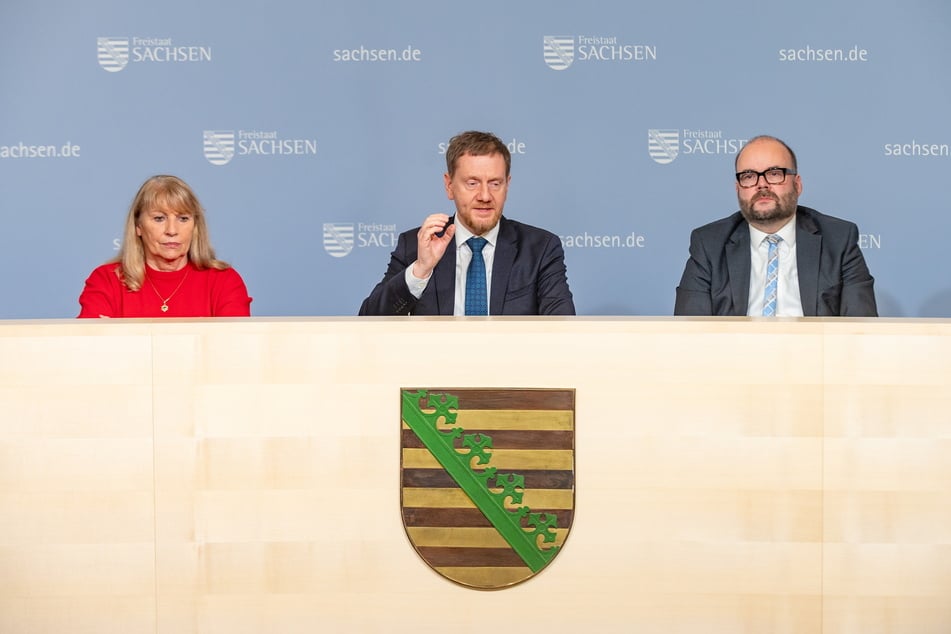
[[[855,224],[815,209],[796,209],[796,261],[807,317],[877,317],[874,280],[858,246]],[[675,315],[746,315],[750,293],[750,229],[740,212],[690,234]]]

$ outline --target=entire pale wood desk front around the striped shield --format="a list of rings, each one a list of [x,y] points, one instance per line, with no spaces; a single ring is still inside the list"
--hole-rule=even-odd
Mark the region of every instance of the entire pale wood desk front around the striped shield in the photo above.
[[[404,386],[576,390],[535,578],[416,555]],[[496,628],[951,632],[951,322],[0,322],[0,632]]]

